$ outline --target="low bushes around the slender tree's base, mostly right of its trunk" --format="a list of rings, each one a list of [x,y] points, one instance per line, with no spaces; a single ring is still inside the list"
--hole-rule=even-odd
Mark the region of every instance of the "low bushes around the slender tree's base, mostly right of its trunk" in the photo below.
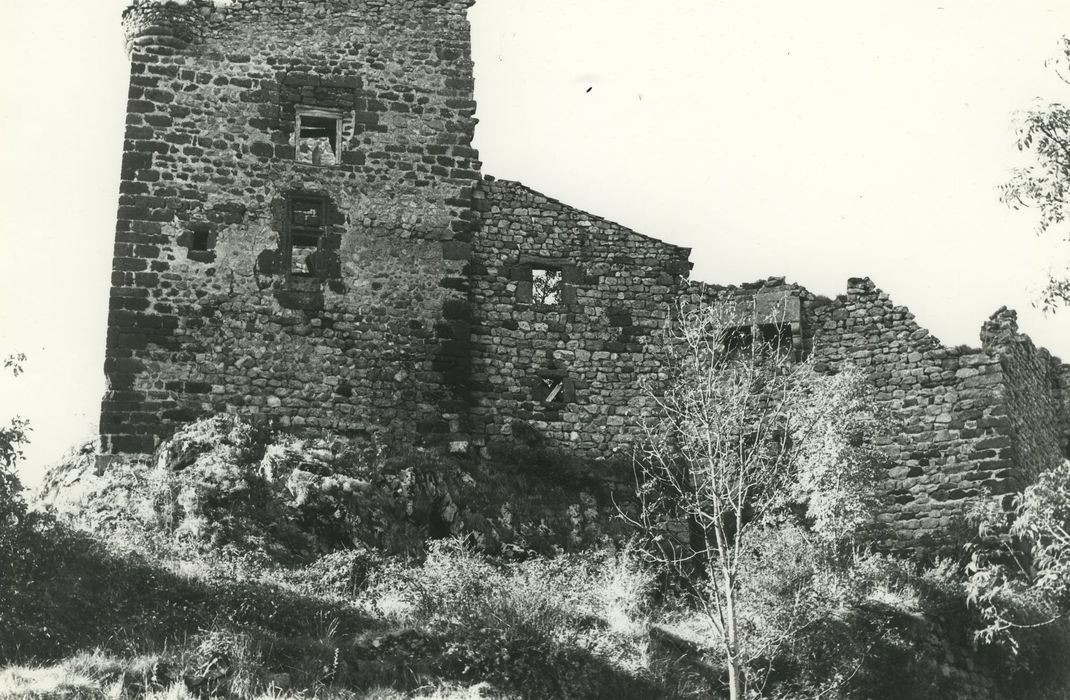
[[[828,557],[798,527],[770,529],[749,554],[761,566],[740,596],[744,627],[766,633],[770,643],[748,669],[750,698],[928,700],[989,697],[1013,667],[1000,650],[976,649],[976,614],[966,606],[953,562],[930,567],[890,554],[852,550]],[[686,598],[655,615],[677,639],[707,651],[714,678],[727,681],[717,633]],[[799,623],[805,624],[799,624]],[[1039,655],[1030,655],[1039,659]],[[976,665],[976,666],[973,666]],[[966,672],[977,668],[983,671]],[[1015,684],[1024,691],[1013,690]],[[1021,678],[1008,698],[1033,698]]]

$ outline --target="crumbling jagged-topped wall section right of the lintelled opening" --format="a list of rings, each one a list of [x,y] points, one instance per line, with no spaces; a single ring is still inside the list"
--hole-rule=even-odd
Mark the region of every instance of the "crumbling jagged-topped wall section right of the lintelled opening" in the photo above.
[[[850,280],[847,293],[831,301],[810,296],[804,315],[819,368],[862,368],[890,421],[882,445],[889,502],[881,519],[900,539],[944,537],[970,500],[1010,493],[1035,477],[1019,448],[1022,401],[1009,399],[1024,387],[1022,372],[1008,371],[1000,348],[943,346],[868,278]],[[1029,389],[1049,408],[1059,400],[1050,384]],[[1046,421],[1028,441],[1050,457],[1059,431]]]

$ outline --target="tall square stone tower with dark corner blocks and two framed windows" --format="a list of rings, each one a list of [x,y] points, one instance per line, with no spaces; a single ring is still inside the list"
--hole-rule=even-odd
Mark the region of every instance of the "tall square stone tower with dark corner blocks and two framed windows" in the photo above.
[[[467,357],[438,320],[465,294],[453,254],[479,169],[468,4],[127,10],[106,451],[220,411],[448,429],[445,376]],[[299,118],[336,119],[305,139],[319,165],[297,162]]]

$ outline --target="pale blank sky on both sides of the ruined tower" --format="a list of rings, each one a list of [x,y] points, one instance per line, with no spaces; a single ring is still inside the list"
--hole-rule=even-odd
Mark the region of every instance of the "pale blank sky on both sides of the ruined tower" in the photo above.
[[[43,467],[94,430],[125,110],[125,0],[5,0],[0,421]],[[1070,260],[998,186],[1015,112],[1070,102],[1045,67],[1065,0],[478,0],[484,172],[692,248],[692,278],[869,276],[947,345],[1017,308],[1070,361]]]

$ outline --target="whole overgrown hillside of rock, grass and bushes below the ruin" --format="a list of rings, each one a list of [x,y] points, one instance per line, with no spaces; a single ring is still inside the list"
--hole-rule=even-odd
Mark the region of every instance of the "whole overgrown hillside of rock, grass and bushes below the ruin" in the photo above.
[[[215,417],[100,475],[88,445],[30,511],[5,497],[0,696],[720,697],[688,583],[592,478],[628,466],[517,432],[476,461]],[[751,670],[764,697],[1065,697],[1057,628],[974,644],[956,560],[831,557],[792,523],[747,556],[746,624],[806,621]]]

